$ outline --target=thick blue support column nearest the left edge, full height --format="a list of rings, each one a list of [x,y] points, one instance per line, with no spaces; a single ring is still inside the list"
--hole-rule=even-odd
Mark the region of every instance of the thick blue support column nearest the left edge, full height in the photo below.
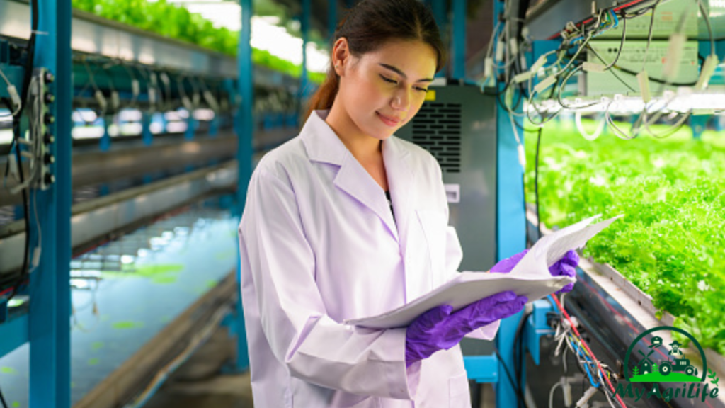
[[[56,120],[49,131],[55,135],[50,151],[56,181],[45,191],[31,192],[42,253],[30,275],[30,408],[70,408],[70,0],[38,2],[35,66],[55,76],[50,84],[55,102],[49,107]],[[30,219],[29,232],[35,234],[38,226]]]

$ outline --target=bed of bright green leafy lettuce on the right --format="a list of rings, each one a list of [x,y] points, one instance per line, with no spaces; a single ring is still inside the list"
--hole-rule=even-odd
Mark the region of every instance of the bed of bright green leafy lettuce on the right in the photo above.
[[[529,203],[536,136],[526,135]],[[539,200],[550,227],[625,214],[584,255],[613,266],[677,326],[725,354],[725,133],[697,140],[684,128],[625,141],[605,132],[589,142],[571,123],[551,123],[542,131]]]

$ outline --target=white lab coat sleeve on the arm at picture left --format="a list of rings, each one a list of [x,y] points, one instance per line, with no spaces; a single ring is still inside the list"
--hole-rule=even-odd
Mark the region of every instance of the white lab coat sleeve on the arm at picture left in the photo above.
[[[242,274],[251,274],[273,354],[292,376],[309,383],[413,399],[420,364],[405,367],[405,329],[370,330],[328,316],[294,190],[260,166],[249,182],[239,239],[248,258],[247,270],[242,260]]]

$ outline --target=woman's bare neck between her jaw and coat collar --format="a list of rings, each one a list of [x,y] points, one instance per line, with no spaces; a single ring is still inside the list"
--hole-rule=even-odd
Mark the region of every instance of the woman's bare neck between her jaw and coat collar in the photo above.
[[[360,131],[352,118],[338,104],[333,103],[325,121],[360,163],[376,160],[381,156],[381,140]]]

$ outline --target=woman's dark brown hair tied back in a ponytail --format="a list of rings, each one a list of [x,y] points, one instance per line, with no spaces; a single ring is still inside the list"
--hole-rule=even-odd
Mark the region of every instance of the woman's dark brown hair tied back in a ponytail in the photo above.
[[[361,0],[338,23],[331,44],[347,38],[350,54],[360,57],[391,40],[420,40],[436,51],[436,72],[445,63],[446,51],[436,20],[419,0]],[[340,77],[332,58],[327,77],[307,102],[305,121],[312,110],[329,109],[337,95]]]

